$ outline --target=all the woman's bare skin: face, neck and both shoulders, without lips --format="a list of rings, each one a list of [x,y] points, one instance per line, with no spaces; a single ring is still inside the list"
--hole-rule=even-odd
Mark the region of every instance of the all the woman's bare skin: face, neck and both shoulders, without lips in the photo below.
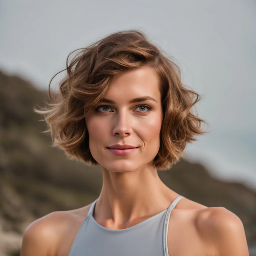
[[[129,104],[142,97],[154,101]],[[178,194],[164,185],[152,166],[160,145],[163,120],[158,78],[144,66],[114,76],[101,103],[85,121],[89,147],[102,166],[103,185],[93,217],[109,229],[125,229],[165,210]],[[146,104],[152,109],[139,106]],[[146,113],[143,113],[147,111]],[[116,156],[106,147],[130,144],[138,148]],[[90,205],[52,212],[25,230],[21,256],[66,256]],[[187,198],[172,210],[168,226],[169,256],[248,256],[241,220],[223,207],[206,207]]]

